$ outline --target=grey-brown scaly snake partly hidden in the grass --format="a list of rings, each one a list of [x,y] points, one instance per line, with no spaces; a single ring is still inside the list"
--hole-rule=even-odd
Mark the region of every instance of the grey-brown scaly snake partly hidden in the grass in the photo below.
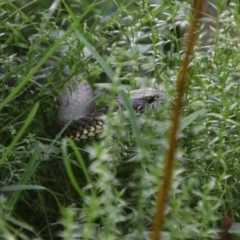
[[[47,61],[34,75],[35,82],[44,84],[47,81],[46,69],[51,70],[54,65]],[[11,70],[0,65],[0,74],[4,75]],[[70,69],[64,67],[61,70],[64,77],[70,75]],[[14,87],[16,76],[5,79],[4,84]],[[163,93],[154,88],[140,88],[129,91],[129,101],[136,112],[143,112],[147,108],[155,108],[163,101]],[[70,137],[75,142],[86,142],[97,137],[103,131],[105,124],[104,116],[109,111],[109,104],[100,108],[95,107],[95,96],[91,85],[87,80],[80,81],[73,76],[70,81],[63,85],[62,91],[58,94],[58,113],[55,120],[55,131],[62,129],[61,137]],[[122,98],[118,95],[115,98],[115,109],[123,108]],[[65,125],[67,125],[65,127]]]

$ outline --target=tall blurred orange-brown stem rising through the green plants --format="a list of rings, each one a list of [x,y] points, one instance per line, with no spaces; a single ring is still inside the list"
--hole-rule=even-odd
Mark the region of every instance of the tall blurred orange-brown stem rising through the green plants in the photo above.
[[[192,22],[188,30],[187,38],[185,38],[185,46],[186,46],[186,54],[185,58],[182,62],[182,67],[180,69],[178,79],[177,79],[177,89],[176,89],[176,98],[174,101],[173,106],[173,113],[172,113],[172,126],[170,129],[169,135],[169,149],[165,159],[165,167],[163,172],[163,183],[162,186],[159,187],[157,193],[157,209],[156,214],[154,216],[153,221],[153,232],[151,236],[151,240],[159,240],[159,234],[162,231],[163,226],[163,216],[164,216],[164,206],[166,197],[168,195],[168,190],[171,181],[172,175],[172,166],[173,166],[173,158],[176,150],[177,144],[177,131],[179,126],[179,117],[180,111],[182,107],[182,98],[185,90],[185,82],[186,82],[186,74],[187,69],[190,62],[190,56],[193,50],[193,46],[197,39],[197,24],[201,17],[201,10],[202,10],[202,0],[195,0],[193,7],[192,7]]]

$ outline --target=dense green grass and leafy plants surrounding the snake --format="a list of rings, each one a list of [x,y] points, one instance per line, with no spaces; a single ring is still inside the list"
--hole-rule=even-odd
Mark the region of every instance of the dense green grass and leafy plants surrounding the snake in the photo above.
[[[149,239],[189,22],[190,3],[172,2],[0,3],[0,239]],[[214,44],[195,46],[189,69],[163,239],[214,238],[229,209],[239,234],[240,6],[216,2]],[[165,101],[140,116],[109,113],[100,139],[76,145],[53,131],[73,75],[97,105],[120,85],[157,88]]]

